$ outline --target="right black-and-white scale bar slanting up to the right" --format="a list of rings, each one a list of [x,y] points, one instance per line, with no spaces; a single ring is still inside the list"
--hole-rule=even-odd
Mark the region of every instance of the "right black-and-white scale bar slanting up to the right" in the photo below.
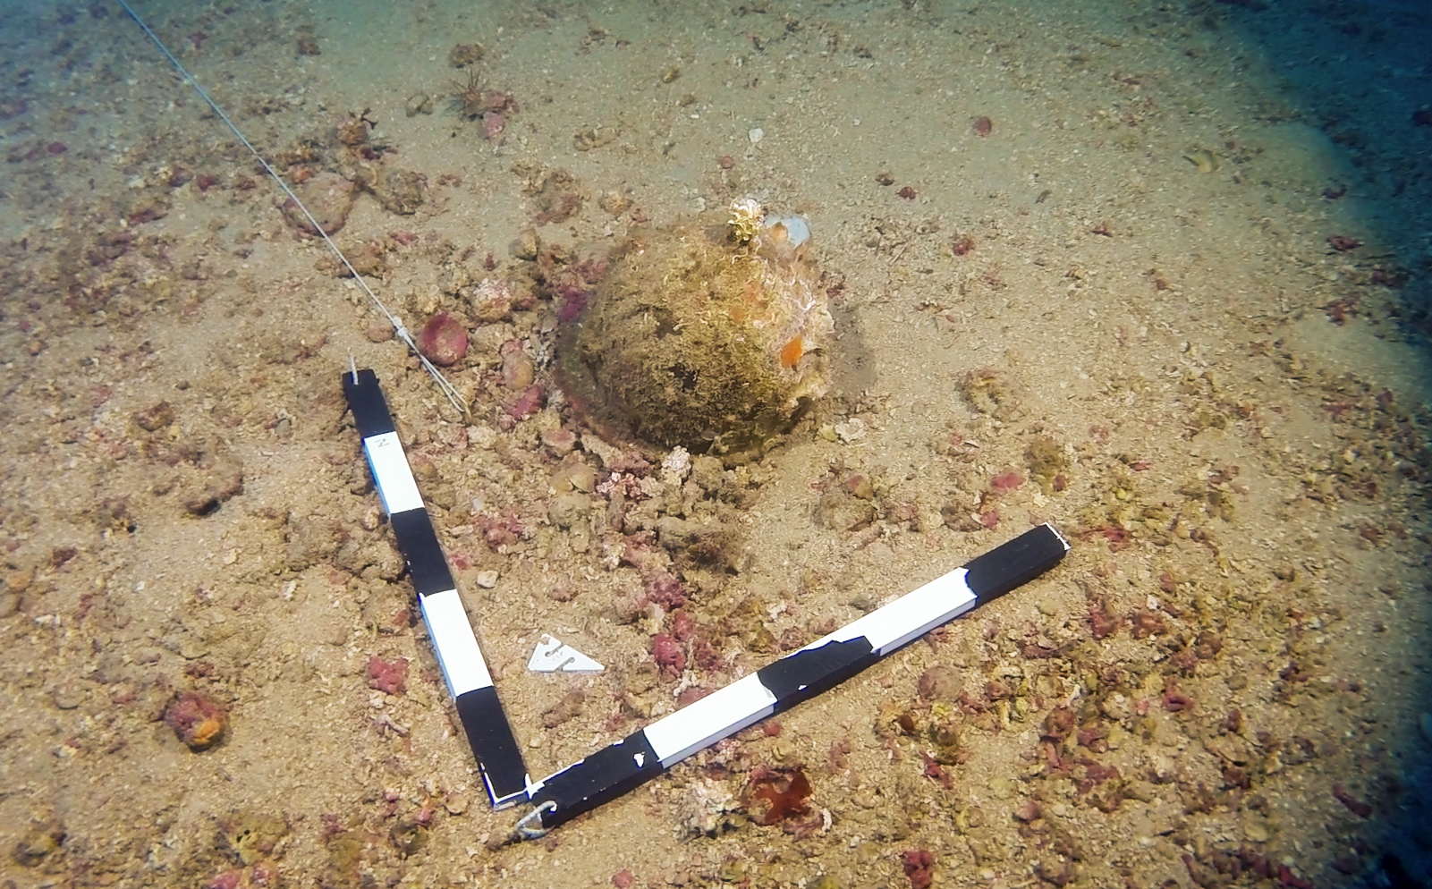
[[[1044,524],[662,717],[531,787],[550,829],[656,777],[692,753],[821,694],[891,651],[1053,568],[1070,544]],[[531,816],[528,816],[531,817]],[[524,819],[527,820],[527,819]]]

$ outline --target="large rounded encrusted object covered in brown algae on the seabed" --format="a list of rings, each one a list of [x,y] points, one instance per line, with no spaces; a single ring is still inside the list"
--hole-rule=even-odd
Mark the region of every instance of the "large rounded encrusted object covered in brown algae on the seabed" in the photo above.
[[[563,338],[574,407],[663,448],[759,455],[826,391],[833,329],[811,229],[742,199],[725,223],[642,229]]]

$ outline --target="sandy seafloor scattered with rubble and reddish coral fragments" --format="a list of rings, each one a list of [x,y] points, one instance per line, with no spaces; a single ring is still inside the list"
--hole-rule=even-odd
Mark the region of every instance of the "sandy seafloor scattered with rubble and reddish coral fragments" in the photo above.
[[[0,886],[1432,885],[1426,4],[140,0],[461,319],[467,419],[119,6],[0,9]],[[831,391],[670,495],[554,348],[629,232],[743,196],[809,219]],[[511,843],[349,356],[534,776],[1074,547]]]

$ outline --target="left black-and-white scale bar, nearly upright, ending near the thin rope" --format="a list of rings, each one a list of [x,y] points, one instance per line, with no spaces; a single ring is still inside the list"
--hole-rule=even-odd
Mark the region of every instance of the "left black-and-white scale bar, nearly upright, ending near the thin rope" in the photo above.
[[[467,620],[453,573],[448,571],[447,557],[442,555],[432,520],[422,505],[422,495],[418,494],[418,482],[408,468],[378,377],[367,369],[344,374],[344,394],[354,412],[382,508],[408,563],[408,575],[418,593],[422,623],[437,650],[442,677],[453,693],[467,740],[483,767],[487,795],[493,799],[494,809],[511,806],[528,796],[527,766],[497,700],[493,676],[477,647],[477,637]]]

